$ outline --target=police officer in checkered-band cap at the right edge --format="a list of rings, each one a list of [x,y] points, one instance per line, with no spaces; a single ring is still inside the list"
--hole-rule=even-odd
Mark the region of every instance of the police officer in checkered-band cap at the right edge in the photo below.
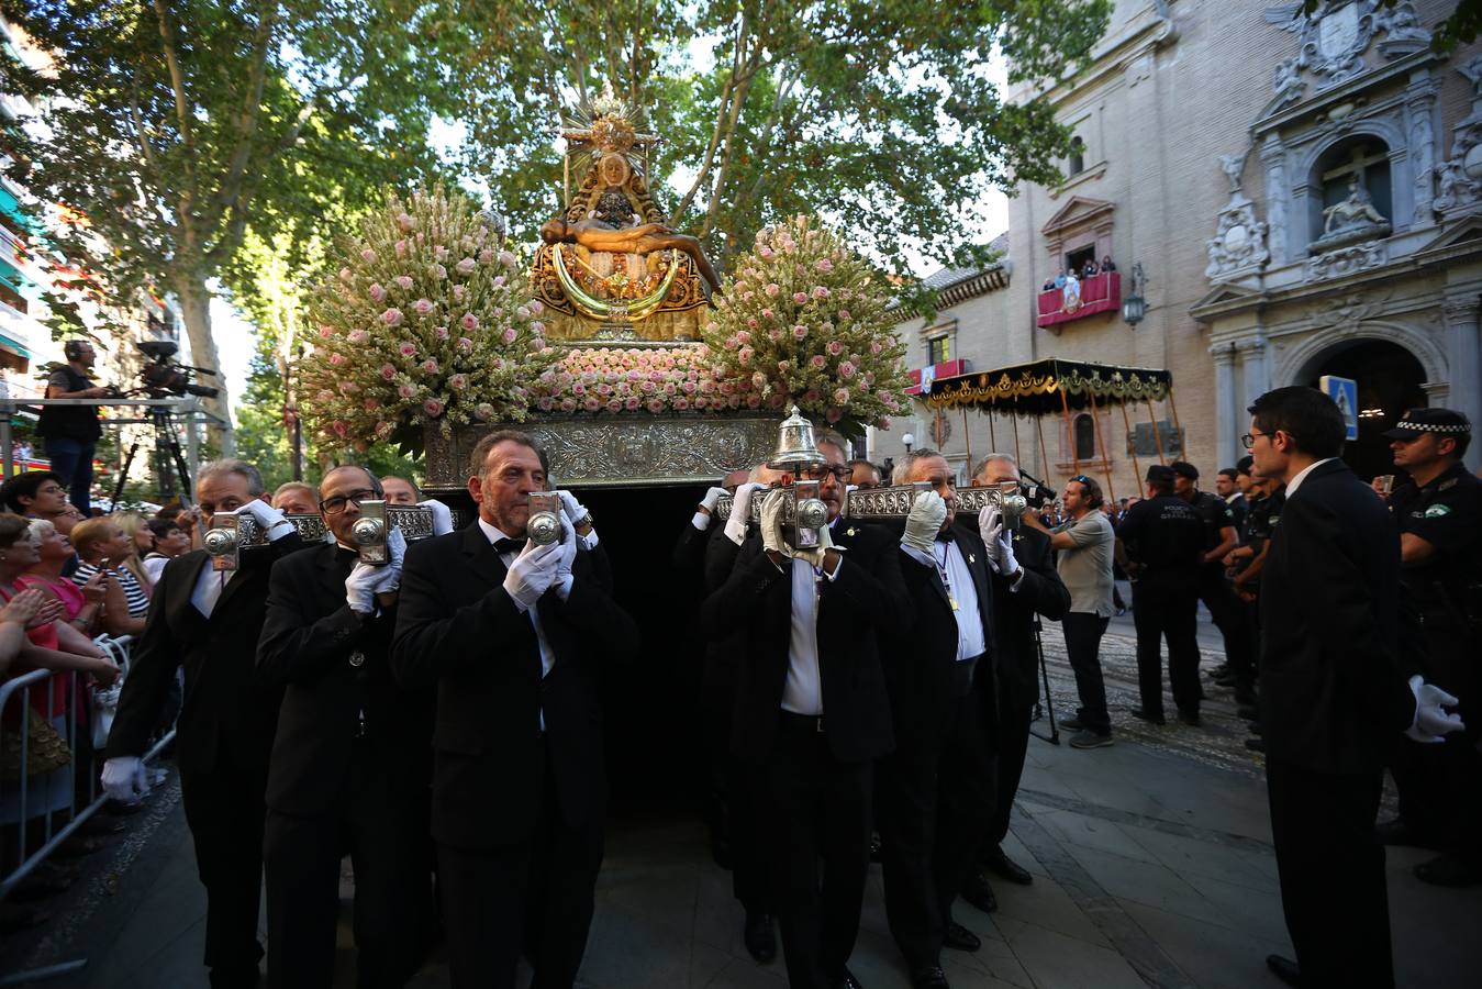
[[[1400,531],[1400,584],[1420,624],[1420,672],[1461,700],[1464,732],[1443,744],[1406,740],[1396,756],[1400,816],[1380,826],[1393,844],[1426,842],[1441,857],[1415,866],[1436,885],[1482,882],[1482,706],[1476,636],[1482,633],[1482,480],[1461,458],[1472,424],[1451,409],[1409,409],[1384,433],[1395,466],[1409,480],[1395,489],[1390,512]]]

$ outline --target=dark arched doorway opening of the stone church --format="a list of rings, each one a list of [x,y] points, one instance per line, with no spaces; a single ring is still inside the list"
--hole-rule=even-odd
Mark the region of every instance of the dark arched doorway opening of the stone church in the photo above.
[[[1353,378],[1359,383],[1359,439],[1343,449],[1343,460],[1368,480],[1395,473],[1384,430],[1395,426],[1408,408],[1426,405],[1426,371],[1415,354],[1384,340],[1355,340],[1340,344],[1313,360],[1298,384],[1317,387],[1325,375]]]

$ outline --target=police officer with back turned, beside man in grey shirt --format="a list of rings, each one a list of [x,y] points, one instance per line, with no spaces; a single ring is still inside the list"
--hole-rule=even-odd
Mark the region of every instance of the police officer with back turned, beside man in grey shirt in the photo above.
[[[1199,724],[1197,578],[1205,543],[1193,506],[1174,494],[1174,469],[1147,469],[1147,498],[1128,509],[1117,531],[1119,555],[1132,577],[1137,679],[1143,706],[1134,718],[1163,724],[1162,641],[1168,638],[1168,684],[1178,716]]]

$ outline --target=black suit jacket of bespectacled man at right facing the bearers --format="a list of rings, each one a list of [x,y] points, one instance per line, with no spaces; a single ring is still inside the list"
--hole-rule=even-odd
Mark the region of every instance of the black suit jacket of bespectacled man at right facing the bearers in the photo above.
[[[1341,461],[1286,495],[1261,571],[1266,752],[1372,773],[1415,715],[1399,660],[1399,534]]]

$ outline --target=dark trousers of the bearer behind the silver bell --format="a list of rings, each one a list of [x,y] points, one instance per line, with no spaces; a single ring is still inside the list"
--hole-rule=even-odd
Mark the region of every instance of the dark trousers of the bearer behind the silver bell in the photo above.
[[[782,713],[777,749],[756,773],[788,986],[833,989],[860,934],[874,764],[840,762],[824,732]]]

